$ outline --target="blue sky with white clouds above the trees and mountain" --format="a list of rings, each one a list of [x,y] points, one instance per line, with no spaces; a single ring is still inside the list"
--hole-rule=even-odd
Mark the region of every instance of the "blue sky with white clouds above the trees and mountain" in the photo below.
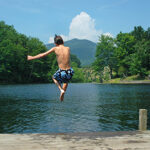
[[[0,20],[45,44],[55,33],[97,42],[101,34],[150,27],[150,0],[0,0]]]

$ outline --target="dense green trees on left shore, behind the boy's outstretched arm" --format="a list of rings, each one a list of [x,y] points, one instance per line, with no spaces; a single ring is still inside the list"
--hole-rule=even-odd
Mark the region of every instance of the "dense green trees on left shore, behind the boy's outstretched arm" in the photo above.
[[[58,69],[55,54],[27,61],[27,55],[45,51],[46,46],[38,38],[20,34],[13,26],[0,21],[0,83],[51,83]],[[75,55],[71,55],[71,60],[76,71],[73,82],[80,82],[81,62]]]

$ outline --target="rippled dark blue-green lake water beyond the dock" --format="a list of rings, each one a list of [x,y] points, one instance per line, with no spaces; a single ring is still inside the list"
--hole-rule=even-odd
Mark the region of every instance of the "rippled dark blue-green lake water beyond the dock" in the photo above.
[[[63,102],[54,84],[0,85],[0,133],[64,133],[138,129],[150,85],[69,84]]]

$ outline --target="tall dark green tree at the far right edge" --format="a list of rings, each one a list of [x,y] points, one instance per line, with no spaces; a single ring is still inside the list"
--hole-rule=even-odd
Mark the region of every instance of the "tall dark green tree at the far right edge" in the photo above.
[[[141,27],[134,27],[131,34],[135,37],[135,53],[131,55],[130,72],[145,77],[150,69],[150,28],[146,31]]]

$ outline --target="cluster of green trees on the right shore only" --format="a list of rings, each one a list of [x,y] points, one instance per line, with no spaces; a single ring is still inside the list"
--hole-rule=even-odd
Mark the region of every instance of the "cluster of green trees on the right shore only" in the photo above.
[[[150,27],[134,27],[130,33],[120,32],[116,38],[101,35],[97,43],[93,69],[104,79],[105,70],[110,78],[138,75],[144,78],[150,71]]]

